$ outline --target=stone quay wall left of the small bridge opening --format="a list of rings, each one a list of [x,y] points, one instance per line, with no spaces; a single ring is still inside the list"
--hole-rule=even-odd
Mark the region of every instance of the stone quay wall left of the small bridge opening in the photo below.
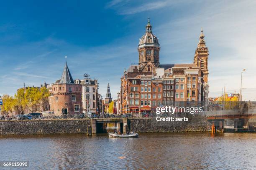
[[[1,120],[0,135],[39,135],[87,133],[90,119]]]

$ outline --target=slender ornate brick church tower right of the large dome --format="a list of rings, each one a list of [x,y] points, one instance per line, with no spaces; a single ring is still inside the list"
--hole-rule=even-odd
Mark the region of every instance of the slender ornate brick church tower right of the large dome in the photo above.
[[[208,47],[205,45],[205,40],[204,40],[204,33],[203,30],[201,29],[201,34],[199,37],[199,42],[197,45],[197,49],[195,51],[195,56],[194,56],[194,63],[195,66],[200,67],[200,70],[202,72],[202,77],[204,79],[204,82],[208,82]]]

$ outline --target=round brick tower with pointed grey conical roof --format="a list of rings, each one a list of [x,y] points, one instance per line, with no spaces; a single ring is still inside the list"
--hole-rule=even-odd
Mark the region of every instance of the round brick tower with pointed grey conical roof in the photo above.
[[[49,85],[50,110],[54,115],[74,115],[82,113],[82,85],[75,84],[67,66],[64,67],[61,79]]]

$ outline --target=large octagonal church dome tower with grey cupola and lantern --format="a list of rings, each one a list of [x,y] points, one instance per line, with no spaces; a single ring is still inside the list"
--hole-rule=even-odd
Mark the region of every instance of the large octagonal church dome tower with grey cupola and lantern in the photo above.
[[[150,25],[148,17],[146,32],[140,38],[138,44],[139,71],[156,72],[156,67],[159,66],[159,51],[160,44],[158,38],[152,32],[152,26]]]

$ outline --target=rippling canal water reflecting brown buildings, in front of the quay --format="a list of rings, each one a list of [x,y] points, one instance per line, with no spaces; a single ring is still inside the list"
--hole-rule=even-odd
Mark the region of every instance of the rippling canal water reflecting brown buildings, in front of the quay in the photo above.
[[[256,133],[0,136],[0,161],[28,169],[256,169]]]

